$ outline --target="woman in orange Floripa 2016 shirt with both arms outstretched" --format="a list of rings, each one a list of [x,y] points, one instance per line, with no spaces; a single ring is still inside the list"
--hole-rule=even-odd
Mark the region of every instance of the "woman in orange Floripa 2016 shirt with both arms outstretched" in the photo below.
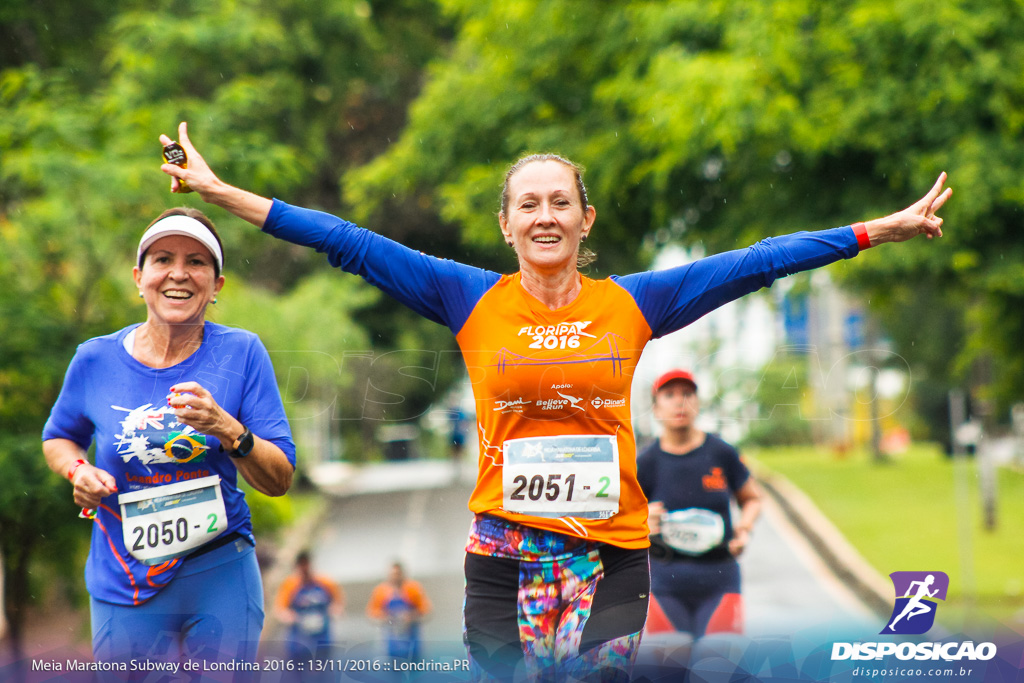
[[[473,675],[627,680],[647,611],[647,501],[636,477],[630,384],[646,343],[777,278],[883,242],[941,234],[945,174],[911,207],[865,223],[769,238],[678,268],[592,280],[597,217],[581,169],[554,155],[506,174],[501,275],[408,249],[340,218],[233,187],[178,129],[185,181],[263,231],[326,253],[456,335],[476,398],[479,474],[466,554]],[[166,144],[170,138],[161,140]]]

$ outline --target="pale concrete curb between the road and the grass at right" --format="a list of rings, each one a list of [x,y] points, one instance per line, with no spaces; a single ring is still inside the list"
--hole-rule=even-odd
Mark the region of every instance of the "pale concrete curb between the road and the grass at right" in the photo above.
[[[886,618],[892,611],[892,586],[854,548],[807,495],[784,476],[758,464],[757,480],[786,519],[807,539],[828,569],[860,600]]]

